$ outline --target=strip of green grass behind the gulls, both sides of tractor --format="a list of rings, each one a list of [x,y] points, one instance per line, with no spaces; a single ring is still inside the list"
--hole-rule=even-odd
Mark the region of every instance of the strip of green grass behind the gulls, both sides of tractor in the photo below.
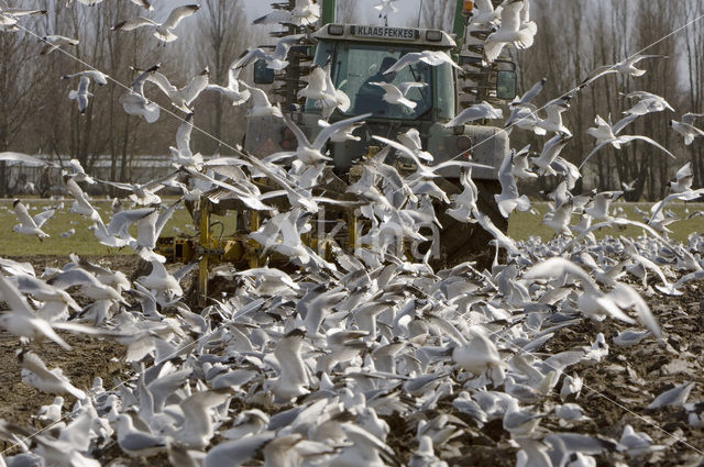
[[[168,202],[169,200],[165,200]],[[44,199],[29,199],[23,201],[28,207],[30,214],[34,215],[41,211],[44,207],[56,207],[61,201],[52,201]],[[63,201],[64,207],[57,209],[56,213],[44,225],[44,231],[51,235],[48,238],[44,238],[41,242],[35,236],[22,235],[12,232],[12,226],[18,223],[14,212],[12,211],[12,201],[0,201],[0,256],[30,256],[30,255],[68,255],[69,253],[77,253],[82,256],[102,256],[102,255],[132,255],[134,252],[130,247],[122,248],[121,251],[114,248],[108,248],[100,243],[94,236],[92,232],[88,230],[91,222],[86,218],[78,214],[72,214],[68,212],[72,200],[67,199]],[[100,212],[105,222],[111,216],[110,201],[109,200],[92,200],[94,205]],[[628,219],[642,221],[642,216],[634,211],[635,207],[644,211],[650,209],[650,203],[614,203],[614,208],[623,208]],[[548,241],[554,236],[554,232],[542,225],[541,220],[547,210],[547,203],[536,202],[534,209],[538,214],[530,212],[514,212],[508,223],[508,234],[514,240],[527,240],[530,236],[539,236],[543,241]],[[668,210],[674,212],[678,216],[685,218],[689,213],[701,211],[704,209],[702,203],[671,203],[667,207]],[[231,218],[222,219],[218,216],[212,218],[213,221],[222,220],[226,224],[224,235],[227,236],[232,232],[233,225]],[[579,222],[576,216],[573,218],[573,224]],[[176,227],[177,230],[175,230]],[[62,232],[66,232],[70,229],[75,229],[76,233],[68,237],[62,237]],[[691,220],[680,221],[670,225],[670,230],[673,231],[670,237],[675,241],[685,241],[688,235],[692,232],[704,232],[704,218],[696,216]],[[215,227],[216,234],[219,234],[219,229]],[[186,209],[178,209],[172,220],[166,224],[162,233],[163,236],[189,236],[195,235],[196,231],[193,226],[193,221]],[[641,229],[626,227],[623,230],[604,229],[595,232],[597,238],[602,238],[606,235],[618,236],[624,235],[627,237],[636,237],[642,234]],[[132,226],[132,235],[136,236],[136,229]]]

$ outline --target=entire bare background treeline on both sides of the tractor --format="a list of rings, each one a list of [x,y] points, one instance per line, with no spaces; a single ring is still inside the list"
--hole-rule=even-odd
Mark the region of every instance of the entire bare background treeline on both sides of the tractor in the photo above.
[[[118,99],[127,92],[123,85],[129,86],[135,76],[132,68],[162,63],[162,71],[172,82],[184,86],[208,66],[211,81],[222,84],[234,57],[252,45],[272,43],[266,29],[251,24],[253,19],[245,14],[240,0],[201,0],[201,10],[178,27],[179,40],[166,46],[147,29],[111,31],[121,20],[145,14],[130,1],[103,1],[96,7],[78,2],[67,7],[66,0],[8,3],[15,8],[42,8],[50,13],[23,18],[21,25],[30,32],[0,33],[0,151],[68,155],[88,169],[99,155],[108,154],[114,162],[111,174],[114,180],[129,179],[130,162],[140,154],[168,154],[178,125],[178,120],[166,112],[157,123],[147,124],[122,110]],[[351,0],[339,1],[341,20],[359,21],[366,16],[355,11],[355,4]],[[418,23],[448,27],[453,5],[454,0],[425,0]],[[670,119],[680,120],[685,112],[704,111],[704,20],[675,32],[704,14],[704,2],[531,0],[530,11],[539,27],[536,43],[527,51],[515,52],[515,58],[520,90],[542,77],[548,78],[538,104],[573,89],[593,68],[619,62],[641,49],[669,57],[641,62],[639,66],[648,70],[642,77],[609,75],[576,93],[571,109],[563,114],[565,124],[574,133],[563,155],[580,164],[594,147],[585,130],[593,125],[596,114],[604,119],[610,114],[617,121],[631,103],[622,93],[646,90],[664,97],[676,113],[645,115],[624,133],[648,135],[679,159],[663,157],[662,153],[638,142],[622,151],[604,148],[585,166],[587,186],[584,188],[619,189],[622,182],[635,180],[635,190],[627,193],[628,199],[659,199],[667,190],[667,180],[686,160],[693,163],[695,186],[704,185],[704,141],[684,146],[668,124]],[[167,14],[168,7],[164,5],[148,15],[163,19]],[[58,51],[40,56],[38,37],[47,34],[78,38],[79,45],[67,49],[76,58]],[[61,79],[63,75],[86,69],[79,60],[120,82],[102,88],[92,84],[90,91],[95,96],[85,115],[80,115],[76,103],[68,99],[77,80]],[[245,75],[242,78],[250,80],[251,71]],[[179,113],[155,86],[147,85],[146,93]],[[194,108],[197,126],[231,146],[242,141],[245,109],[230,105],[215,92],[204,92]],[[194,132],[194,147],[204,154],[228,154],[228,148],[216,138]],[[512,135],[515,147],[528,142],[539,152],[544,138],[518,131]],[[3,180],[0,170],[0,191],[7,186]]]

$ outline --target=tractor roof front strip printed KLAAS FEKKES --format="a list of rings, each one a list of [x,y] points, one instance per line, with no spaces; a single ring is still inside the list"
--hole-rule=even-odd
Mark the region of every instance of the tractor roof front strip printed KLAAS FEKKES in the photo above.
[[[422,45],[433,48],[452,48],[457,44],[444,31],[422,27],[370,26],[361,24],[326,24],[314,37],[344,42],[383,42]]]

